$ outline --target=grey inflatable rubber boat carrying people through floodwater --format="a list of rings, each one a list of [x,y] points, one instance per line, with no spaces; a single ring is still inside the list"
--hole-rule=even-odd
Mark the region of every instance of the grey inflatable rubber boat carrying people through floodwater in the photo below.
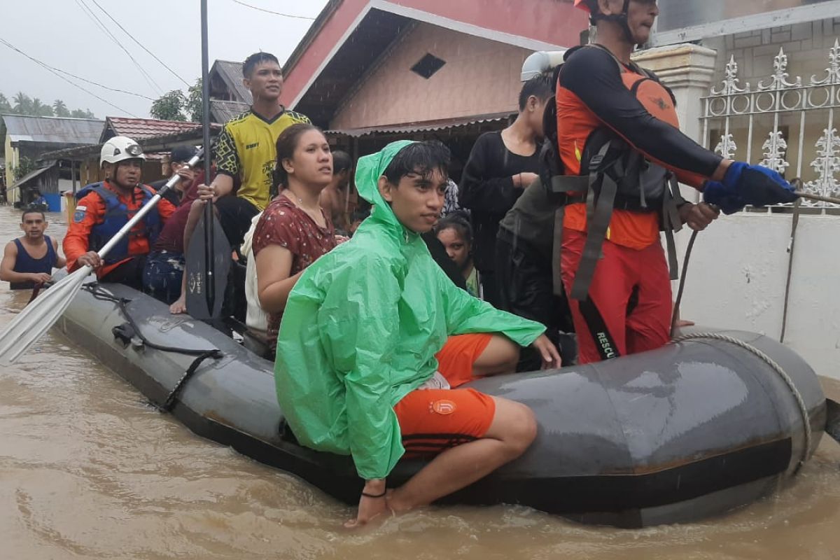
[[[297,445],[277,404],[273,364],[223,332],[172,316],[123,285],[86,285],[57,326],[153,403],[169,400],[198,435],[339,500],[358,500],[351,459]],[[816,374],[764,336],[706,336],[714,338],[470,384],[530,406],[538,437],[521,458],[444,502],[522,504],[583,523],[640,527],[769,495],[811,456],[826,427]],[[389,485],[422,466],[399,463]]]

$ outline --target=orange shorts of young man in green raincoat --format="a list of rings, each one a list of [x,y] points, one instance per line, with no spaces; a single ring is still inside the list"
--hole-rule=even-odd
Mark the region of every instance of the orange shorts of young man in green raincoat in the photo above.
[[[437,354],[438,371],[457,387],[474,379],[472,366],[492,335],[450,337]],[[496,401],[475,389],[413,390],[394,406],[407,458],[437,455],[484,437],[496,415]]]

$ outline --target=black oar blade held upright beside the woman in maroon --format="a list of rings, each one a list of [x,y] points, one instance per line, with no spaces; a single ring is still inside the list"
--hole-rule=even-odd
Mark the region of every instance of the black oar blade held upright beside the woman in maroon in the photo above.
[[[186,249],[186,312],[200,321],[221,317],[231,260],[230,243],[215,214],[213,238],[205,236],[206,216],[202,214]]]

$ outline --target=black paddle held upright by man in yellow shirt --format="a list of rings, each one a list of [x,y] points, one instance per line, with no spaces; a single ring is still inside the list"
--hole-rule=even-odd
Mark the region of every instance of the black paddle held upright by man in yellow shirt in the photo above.
[[[207,0],[202,0],[202,128],[204,145],[210,146],[210,80],[207,56]],[[211,150],[204,158],[204,181],[210,181]],[[201,321],[222,314],[224,290],[230,270],[230,244],[213,211],[213,201],[204,205],[197,235],[186,248],[186,312]]]

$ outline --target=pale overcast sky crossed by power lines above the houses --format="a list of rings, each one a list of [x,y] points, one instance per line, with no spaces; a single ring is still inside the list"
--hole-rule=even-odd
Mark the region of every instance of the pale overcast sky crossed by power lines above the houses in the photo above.
[[[96,0],[123,28],[165,62],[178,76],[193,83],[201,76],[199,0]],[[242,0],[258,8],[315,18],[327,0]],[[86,5],[148,72],[150,84],[113,39],[82,7]],[[286,18],[248,8],[234,0],[209,0],[210,64],[213,60],[244,60],[257,50],[286,61],[312,25],[312,19]],[[119,29],[93,0],[0,0],[0,39],[29,56],[90,81],[147,97],[160,97],[186,86],[160,62]],[[24,55],[0,43],[0,92],[11,101],[17,92],[52,104],[56,98],[72,109],[90,109],[106,116],[149,117],[151,101],[110,92],[73,78],[118,110],[63,81]]]

